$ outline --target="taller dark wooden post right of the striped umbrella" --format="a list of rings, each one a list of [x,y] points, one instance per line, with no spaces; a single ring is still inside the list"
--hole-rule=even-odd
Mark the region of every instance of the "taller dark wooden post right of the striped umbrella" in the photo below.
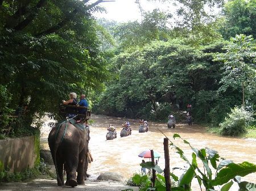
[[[164,138],[164,161],[166,163],[164,167],[164,179],[166,179],[166,191],[171,191],[171,179],[170,179],[170,155],[169,155],[169,140]]]

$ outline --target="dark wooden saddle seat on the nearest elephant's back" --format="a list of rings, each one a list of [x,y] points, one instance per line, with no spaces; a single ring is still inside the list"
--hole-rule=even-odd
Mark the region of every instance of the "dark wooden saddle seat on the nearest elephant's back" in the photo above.
[[[60,104],[59,114],[61,117],[66,118],[68,114],[74,114],[77,119],[81,121],[87,121],[90,119],[90,110],[86,107],[76,106],[76,105],[64,105]]]

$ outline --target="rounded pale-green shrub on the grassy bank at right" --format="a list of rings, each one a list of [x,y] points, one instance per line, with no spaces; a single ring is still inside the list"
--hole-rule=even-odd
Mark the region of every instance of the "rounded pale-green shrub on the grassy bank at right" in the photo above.
[[[235,107],[220,124],[221,134],[228,136],[238,136],[246,133],[246,127],[253,121],[251,113],[247,112],[243,107]]]

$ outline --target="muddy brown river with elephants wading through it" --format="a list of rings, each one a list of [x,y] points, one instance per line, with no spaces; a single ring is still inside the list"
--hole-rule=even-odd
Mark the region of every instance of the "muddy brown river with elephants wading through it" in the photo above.
[[[256,162],[256,142],[255,139],[239,139],[221,137],[207,133],[203,126],[195,125],[188,126],[187,124],[176,124],[175,129],[168,129],[166,123],[156,123],[148,121],[149,131],[147,133],[139,133],[139,120],[108,117],[102,115],[92,115],[91,120],[94,122],[90,126],[90,142],[89,148],[93,155],[93,163],[88,172],[92,175],[98,175],[101,172],[118,172],[124,177],[129,178],[135,172],[140,172],[139,164],[142,158],[138,155],[148,149],[153,149],[160,154],[158,165],[164,168],[164,135],[158,130],[160,129],[168,138],[170,138],[176,146],[179,146],[191,161],[192,151],[188,145],[184,144],[181,139],[173,139],[174,133],[179,134],[183,139],[186,139],[195,148],[209,147],[217,150],[219,155],[225,159],[231,159],[235,163],[243,161],[254,163]],[[128,137],[120,137],[119,133],[122,129],[122,124],[129,121],[131,124],[132,134]],[[106,141],[107,127],[113,124],[117,130],[117,138]],[[157,129],[158,128],[158,129]],[[43,129],[42,143],[48,148],[47,137],[49,128]],[[149,159],[145,159],[146,162]],[[199,160],[197,160],[199,162]],[[180,159],[179,154],[176,154],[174,149],[170,147],[170,165],[174,167],[187,167],[187,164]],[[181,175],[181,171],[173,171],[176,175]],[[215,171],[213,171],[213,174]],[[256,182],[256,173],[242,177],[242,180]],[[192,187],[195,190],[200,190],[196,186],[196,182],[192,182]],[[193,189],[193,190],[194,190]]]

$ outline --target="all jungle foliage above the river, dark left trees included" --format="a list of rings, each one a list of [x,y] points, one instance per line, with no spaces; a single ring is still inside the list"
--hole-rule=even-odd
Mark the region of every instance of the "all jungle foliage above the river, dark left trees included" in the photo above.
[[[94,18],[102,2],[112,3],[0,1],[0,135],[57,119],[70,92],[94,113],[147,120],[179,118],[187,104],[194,121],[214,125],[235,106],[255,113],[254,0],[162,0],[172,12],[137,0],[142,18],[126,23]]]

